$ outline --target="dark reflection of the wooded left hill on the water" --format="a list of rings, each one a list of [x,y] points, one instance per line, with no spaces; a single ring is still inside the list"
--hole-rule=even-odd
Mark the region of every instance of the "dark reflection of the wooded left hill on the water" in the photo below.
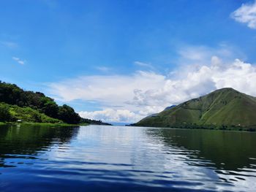
[[[40,126],[0,126],[0,166],[17,166],[7,158],[35,159],[47,151],[54,142],[63,145],[75,137],[78,127],[49,128]],[[23,164],[23,162],[18,162]]]

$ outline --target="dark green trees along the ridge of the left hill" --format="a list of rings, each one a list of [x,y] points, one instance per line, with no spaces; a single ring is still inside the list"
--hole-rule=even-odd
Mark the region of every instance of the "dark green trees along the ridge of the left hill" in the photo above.
[[[59,106],[54,99],[44,93],[24,91],[15,84],[0,81],[0,102],[17,105],[18,107],[31,107],[34,110],[48,115],[50,118],[62,120],[65,123],[78,124],[82,120],[78,113],[67,104]],[[9,118],[7,107],[1,107],[0,120]]]

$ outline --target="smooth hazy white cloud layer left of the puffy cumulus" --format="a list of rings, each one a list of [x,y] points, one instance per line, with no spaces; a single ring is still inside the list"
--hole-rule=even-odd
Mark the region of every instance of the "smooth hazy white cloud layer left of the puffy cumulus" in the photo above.
[[[131,75],[92,75],[50,84],[51,93],[59,100],[85,99],[108,105],[122,105],[129,101],[135,89],[146,91],[158,88],[165,76],[154,72],[136,72]]]

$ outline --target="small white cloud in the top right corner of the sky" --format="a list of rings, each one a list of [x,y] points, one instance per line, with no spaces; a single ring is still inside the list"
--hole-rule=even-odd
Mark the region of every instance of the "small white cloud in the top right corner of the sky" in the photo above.
[[[249,28],[256,28],[256,1],[251,4],[242,4],[231,14],[231,18],[246,23]]]

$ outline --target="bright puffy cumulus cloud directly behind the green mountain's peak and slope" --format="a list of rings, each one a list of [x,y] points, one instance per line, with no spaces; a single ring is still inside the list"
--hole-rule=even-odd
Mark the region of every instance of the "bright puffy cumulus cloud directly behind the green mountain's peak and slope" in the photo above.
[[[187,70],[186,70],[187,71]],[[236,59],[232,64],[223,64],[216,56],[210,65],[197,67],[185,77],[166,79],[157,89],[135,91],[130,104],[167,106],[196,98],[219,88],[235,88],[256,96],[256,67]]]

